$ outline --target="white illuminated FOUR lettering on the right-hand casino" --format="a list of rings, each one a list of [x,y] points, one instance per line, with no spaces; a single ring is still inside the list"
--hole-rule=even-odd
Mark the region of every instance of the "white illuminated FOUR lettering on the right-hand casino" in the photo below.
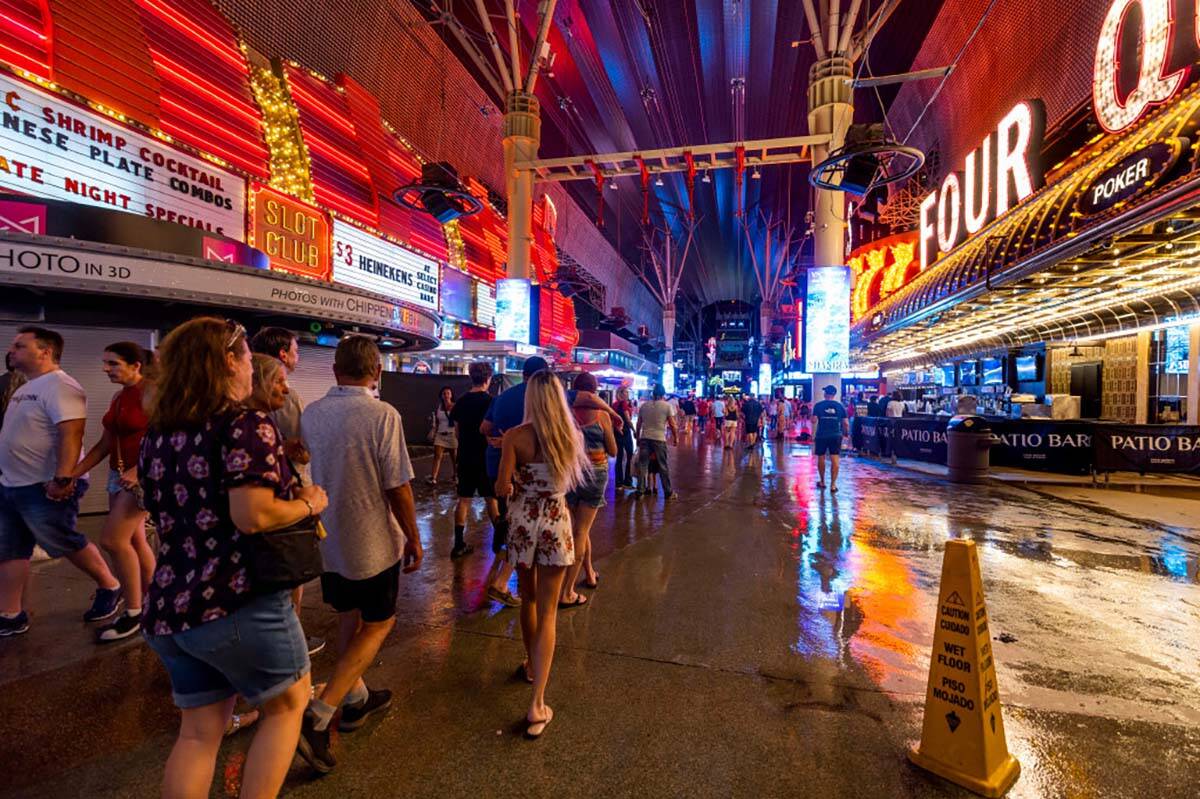
[[[1044,132],[1042,103],[1016,103],[995,133],[967,154],[962,172],[946,175],[942,186],[920,202],[922,270],[1042,187],[1038,156]]]

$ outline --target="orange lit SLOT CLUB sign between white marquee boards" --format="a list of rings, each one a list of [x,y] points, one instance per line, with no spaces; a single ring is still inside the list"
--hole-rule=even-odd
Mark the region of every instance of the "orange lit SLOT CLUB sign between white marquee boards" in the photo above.
[[[271,269],[329,280],[329,215],[269,186],[250,187],[247,241],[271,259]]]

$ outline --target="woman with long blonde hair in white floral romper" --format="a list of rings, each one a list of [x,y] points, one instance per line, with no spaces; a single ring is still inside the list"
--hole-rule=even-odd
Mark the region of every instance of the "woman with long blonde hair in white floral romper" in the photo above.
[[[529,378],[524,423],[504,434],[496,495],[509,497],[509,560],[521,589],[522,672],[533,683],[526,735],[538,738],[553,717],[546,684],[554,659],[558,597],[575,563],[566,492],[589,470],[583,434],[562,384],[548,371]]]

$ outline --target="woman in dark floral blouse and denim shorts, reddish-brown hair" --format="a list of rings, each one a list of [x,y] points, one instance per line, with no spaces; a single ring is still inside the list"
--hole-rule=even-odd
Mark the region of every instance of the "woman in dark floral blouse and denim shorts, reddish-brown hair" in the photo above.
[[[263,713],[242,795],[274,797],[308,702],[308,653],[288,591],[256,590],[246,536],[319,513],[328,498],[296,487],[275,423],[242,404],[241,325],[193,319],[163,340],[160,359],[139,474],[160,539],[143,630],[182,711],[162,793],[208,795],[241,693]]]

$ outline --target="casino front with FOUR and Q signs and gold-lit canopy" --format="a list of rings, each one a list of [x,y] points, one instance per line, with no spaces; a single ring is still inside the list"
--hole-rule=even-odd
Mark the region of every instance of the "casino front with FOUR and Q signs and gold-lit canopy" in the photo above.
[[[920,200],[914,241],[884,242],[887,263],[864,266],[854,360],[881,367],[913,410],[948,414],[972,396],[1001,441],[1085,435],[1086,458],[1063,470],[1117,468],[1111,452],[1130,446],[1141,455],[1123,468],[1195,470],[1177,453],[1200,429],[1186,426],[1200,421],[1200,84],[1166,68],[1177,26],[1138,31],[1136,13],[1122,22],[1128,6],[1110,4],[1081,54],[1094,59],[1103,131],[1063,152],[1096,122],[1045,131],[1037,101],[997,119]],[[1146,41],[1145,58],[1174,74],[1169,91],[1156,65],[1120,71]],[[1114,435],[1122,446],[1097,444]],[[1006,446],[994,462],[1055,459]]]

